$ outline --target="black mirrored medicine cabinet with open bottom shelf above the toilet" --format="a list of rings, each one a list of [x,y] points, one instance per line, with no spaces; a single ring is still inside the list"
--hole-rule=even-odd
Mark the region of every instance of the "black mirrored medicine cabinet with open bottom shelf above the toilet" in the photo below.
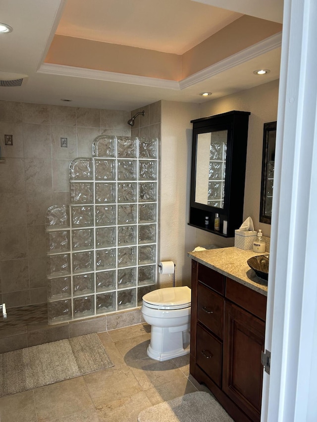
[[[224,237],[233,237],[234,230],[240,227],[249,115],[248,111],[229,111],[191,121],[190,226]],[[216,214],[220,218],[219,231],[214,230]],[[209,224],[205,224],[206,220]]]

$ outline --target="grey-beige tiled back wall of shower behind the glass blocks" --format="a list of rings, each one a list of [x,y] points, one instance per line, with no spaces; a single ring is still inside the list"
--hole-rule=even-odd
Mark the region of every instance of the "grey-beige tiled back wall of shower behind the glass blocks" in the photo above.
[[[47,301],[45,213],[70,203],[70,162],[91,156],[98,135],[129,136],[129,118],[128,111],[0,101],[1,303]]]

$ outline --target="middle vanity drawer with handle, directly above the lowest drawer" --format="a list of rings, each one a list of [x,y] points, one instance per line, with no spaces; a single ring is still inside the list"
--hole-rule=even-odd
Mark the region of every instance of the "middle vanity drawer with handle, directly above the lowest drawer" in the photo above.
[[[197,318],[217,337],[223,336],[224,299],[202,283],[198,283]]]

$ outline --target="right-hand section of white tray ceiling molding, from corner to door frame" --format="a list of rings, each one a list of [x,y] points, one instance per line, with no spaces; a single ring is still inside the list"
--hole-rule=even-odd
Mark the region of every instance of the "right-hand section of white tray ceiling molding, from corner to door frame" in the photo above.
[[[187,78],[180,81],[180,89],[191,87],[199,82],[204,82],[206,79],[211,78],[225,70],[231,69],[239,64],[245,63],[246,61],[252,60],[268,51],[274,50],[275,48],[281,47],[282,45],[282,33],[272,35],[251,47],[245,48],[236,54],[232,54],[218,63],[212,64],[206,69],[203,69],[194,75],[188,76]]]

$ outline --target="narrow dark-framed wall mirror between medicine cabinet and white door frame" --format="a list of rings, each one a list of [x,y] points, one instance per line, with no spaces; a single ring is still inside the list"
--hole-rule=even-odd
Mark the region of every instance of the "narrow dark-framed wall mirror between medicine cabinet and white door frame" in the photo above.
[[[276,122],[264,123],[260,223],[271,224]]]

